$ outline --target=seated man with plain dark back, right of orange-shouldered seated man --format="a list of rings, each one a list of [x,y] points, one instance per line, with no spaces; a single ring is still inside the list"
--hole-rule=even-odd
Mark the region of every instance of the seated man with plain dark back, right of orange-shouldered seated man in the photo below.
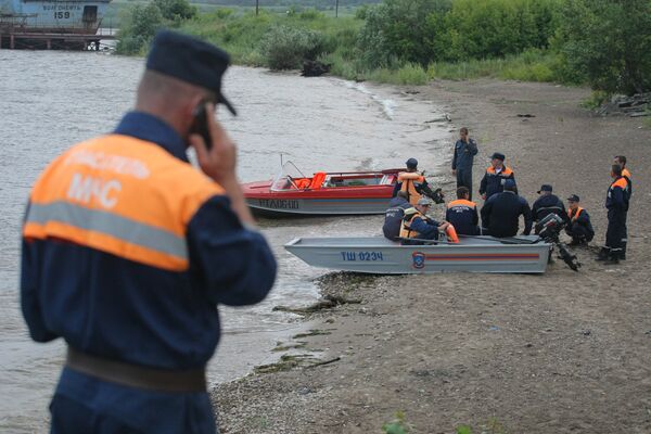
[[[515,182],[507,179],[505,191],[494,194],[482,207],[482,232],[493,237],[515,237],[520,216],[524,217],[524,231],[532,232],[532,209],[524,197],[515,193]]]

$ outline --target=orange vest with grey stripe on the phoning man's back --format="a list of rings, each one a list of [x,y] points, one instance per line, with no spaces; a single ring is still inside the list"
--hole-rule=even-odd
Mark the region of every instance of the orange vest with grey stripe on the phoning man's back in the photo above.
[[[48,166],[31,191],[23,235],[183,271],[187,226],[206,200],[222,193],[159,145],[110,135],[75,145]]]

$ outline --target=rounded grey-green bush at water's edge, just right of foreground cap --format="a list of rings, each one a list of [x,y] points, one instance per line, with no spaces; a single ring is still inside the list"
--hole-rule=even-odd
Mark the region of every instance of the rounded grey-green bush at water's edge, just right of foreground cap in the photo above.
[[[324,51],[321,34],[308,29],[277,26],[260,43],[260,52],[271,69],[295,69]]]

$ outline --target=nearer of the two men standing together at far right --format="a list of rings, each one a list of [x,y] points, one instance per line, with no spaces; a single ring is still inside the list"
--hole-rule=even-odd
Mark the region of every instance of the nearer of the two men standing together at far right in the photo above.
[[[605,246],[599,252],[597,260],[607,264],[618,264],[624,253],[626,238],[626,212],[628,210],[628,182],[622,176],[622,166],[614,164],[611,168],[611,182],[605,196],[608,209],[608,229]]]

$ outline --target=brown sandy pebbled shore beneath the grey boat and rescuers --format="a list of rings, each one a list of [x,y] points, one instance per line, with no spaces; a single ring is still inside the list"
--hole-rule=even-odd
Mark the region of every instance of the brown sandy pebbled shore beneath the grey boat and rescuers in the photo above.
[[[283,343],[296,346],[279,352],[284,363],[217,386],[222,432],[380,433],[403,410],[413,433],[651,433],[651,130],[593,117],[578,106],[585,89],[480,80],[405,91],[471,129],[475,190],[488,155],[503,152],[531,202],[540,183],[580,195],[596,244],[612,157],[625,154],[628,260],[604,267],[584,248],[578,273],[557,261],[539,277],[327,275],[324,295],[361,303],[306,315],[318,332]]]

